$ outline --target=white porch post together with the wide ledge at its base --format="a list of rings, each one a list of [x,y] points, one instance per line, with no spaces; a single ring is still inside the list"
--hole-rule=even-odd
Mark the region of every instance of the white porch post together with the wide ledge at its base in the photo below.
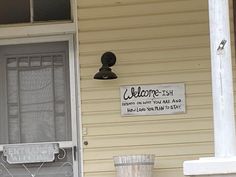
[[[215,157],[185,161],[184,175],[236,174],[236,135],[229,26],[229,1],[208,0]],[[222,42],[226,43],[223,44]]]

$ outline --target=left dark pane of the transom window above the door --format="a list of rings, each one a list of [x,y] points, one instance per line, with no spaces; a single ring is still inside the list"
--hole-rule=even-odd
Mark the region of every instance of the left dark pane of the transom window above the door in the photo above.
[[[30,0],[0,0],[0,24],[30,22]]]

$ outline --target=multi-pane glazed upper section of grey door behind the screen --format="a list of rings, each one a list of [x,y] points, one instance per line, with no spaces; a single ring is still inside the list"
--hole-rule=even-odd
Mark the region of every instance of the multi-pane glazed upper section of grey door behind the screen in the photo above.
[[[65,61],[64,53],[7,59],[9,143],[71,140]]]

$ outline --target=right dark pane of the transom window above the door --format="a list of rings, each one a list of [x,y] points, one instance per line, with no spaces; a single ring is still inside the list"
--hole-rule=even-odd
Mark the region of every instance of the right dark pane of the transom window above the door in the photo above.
[[[34,21],[70,20],[70,0],[34,0]]]

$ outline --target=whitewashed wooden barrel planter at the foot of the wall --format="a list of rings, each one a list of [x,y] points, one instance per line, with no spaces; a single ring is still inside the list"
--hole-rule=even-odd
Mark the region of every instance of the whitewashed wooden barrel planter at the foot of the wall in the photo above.
[[[117,177],[152,177],[155,155],[113,157]]]

